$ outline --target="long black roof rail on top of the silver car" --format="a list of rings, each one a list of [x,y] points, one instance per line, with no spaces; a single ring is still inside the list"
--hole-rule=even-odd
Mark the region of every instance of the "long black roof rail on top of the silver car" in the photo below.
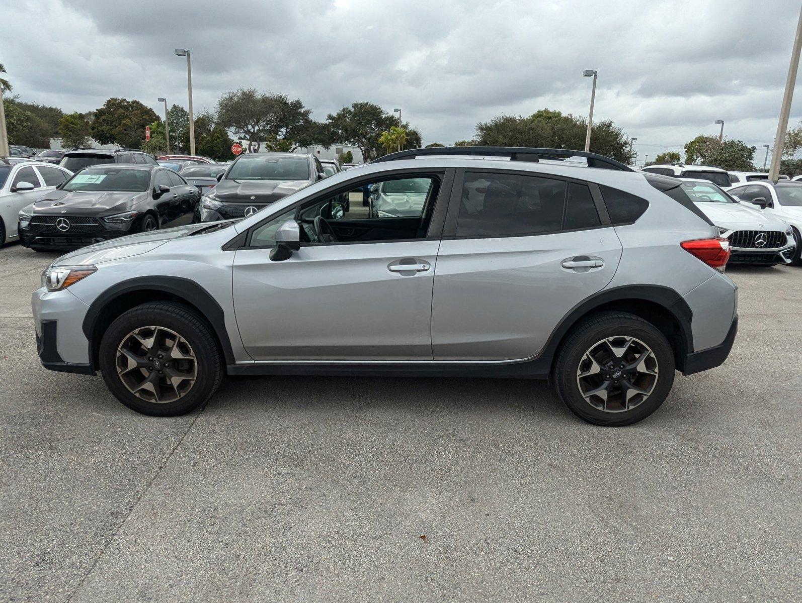
[[[571,149],[542,149],[528,147],[431,147],[427,149],[407,149],[374,159],[371,163],[383,163],[397,159],[411,159],[422,155],[485,155],[508,157],[510,161],[530,161],[538,163],[541,159],[564,161],[569,157],[584,157],[588,167],[603,167],[609,170],[634,171],[620,161],[598,153],[572,151]]]

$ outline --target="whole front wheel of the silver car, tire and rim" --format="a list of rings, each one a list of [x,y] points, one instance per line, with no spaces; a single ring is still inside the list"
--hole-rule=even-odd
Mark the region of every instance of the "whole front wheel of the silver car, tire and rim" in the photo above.
[[[142,304],[120,315],[100,342],[100,371],[117,400],[145,415],[177,416],[205,404],[223,363],[211,328],[180,304]]]

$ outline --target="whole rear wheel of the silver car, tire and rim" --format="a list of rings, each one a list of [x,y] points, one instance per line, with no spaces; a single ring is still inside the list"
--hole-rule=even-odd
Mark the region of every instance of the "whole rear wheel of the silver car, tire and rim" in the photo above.
[[[674,383],[674,352],[654,325],[628,312],[600,312],[570,333],[554,368],[557,395],[589,423],[637,423]]]

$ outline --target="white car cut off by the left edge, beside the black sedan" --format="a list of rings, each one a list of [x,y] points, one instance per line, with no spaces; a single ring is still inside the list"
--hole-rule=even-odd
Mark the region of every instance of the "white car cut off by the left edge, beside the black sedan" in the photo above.
[[[41,161],[8,163],[0,159],[0,245],[15,241],[22,207],[67,182],[72,172]]]

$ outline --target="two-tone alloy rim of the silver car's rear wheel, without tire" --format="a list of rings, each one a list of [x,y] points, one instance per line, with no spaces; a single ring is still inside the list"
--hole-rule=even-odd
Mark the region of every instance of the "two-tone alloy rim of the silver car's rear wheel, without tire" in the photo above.
[[[650,396],[657,380],[657,357],[634,337],[598,341],[582,355],[577,367],[581,396],[603,412],[632,410]]]

